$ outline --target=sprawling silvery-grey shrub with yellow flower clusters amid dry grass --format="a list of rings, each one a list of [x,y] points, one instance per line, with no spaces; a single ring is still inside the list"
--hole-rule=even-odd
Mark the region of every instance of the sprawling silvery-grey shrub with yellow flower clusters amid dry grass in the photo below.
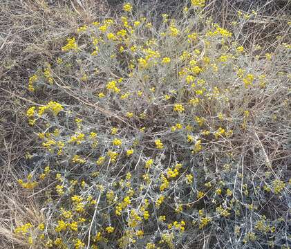
[[[226,30],[204,6],[158,23],[125,3],[36,68],[28,91],[51,101],[26,111],[39,149],[19,184],[46,221],[15,229],[32,247],[290,245],[290,45],[254,55],[241,17]]]

